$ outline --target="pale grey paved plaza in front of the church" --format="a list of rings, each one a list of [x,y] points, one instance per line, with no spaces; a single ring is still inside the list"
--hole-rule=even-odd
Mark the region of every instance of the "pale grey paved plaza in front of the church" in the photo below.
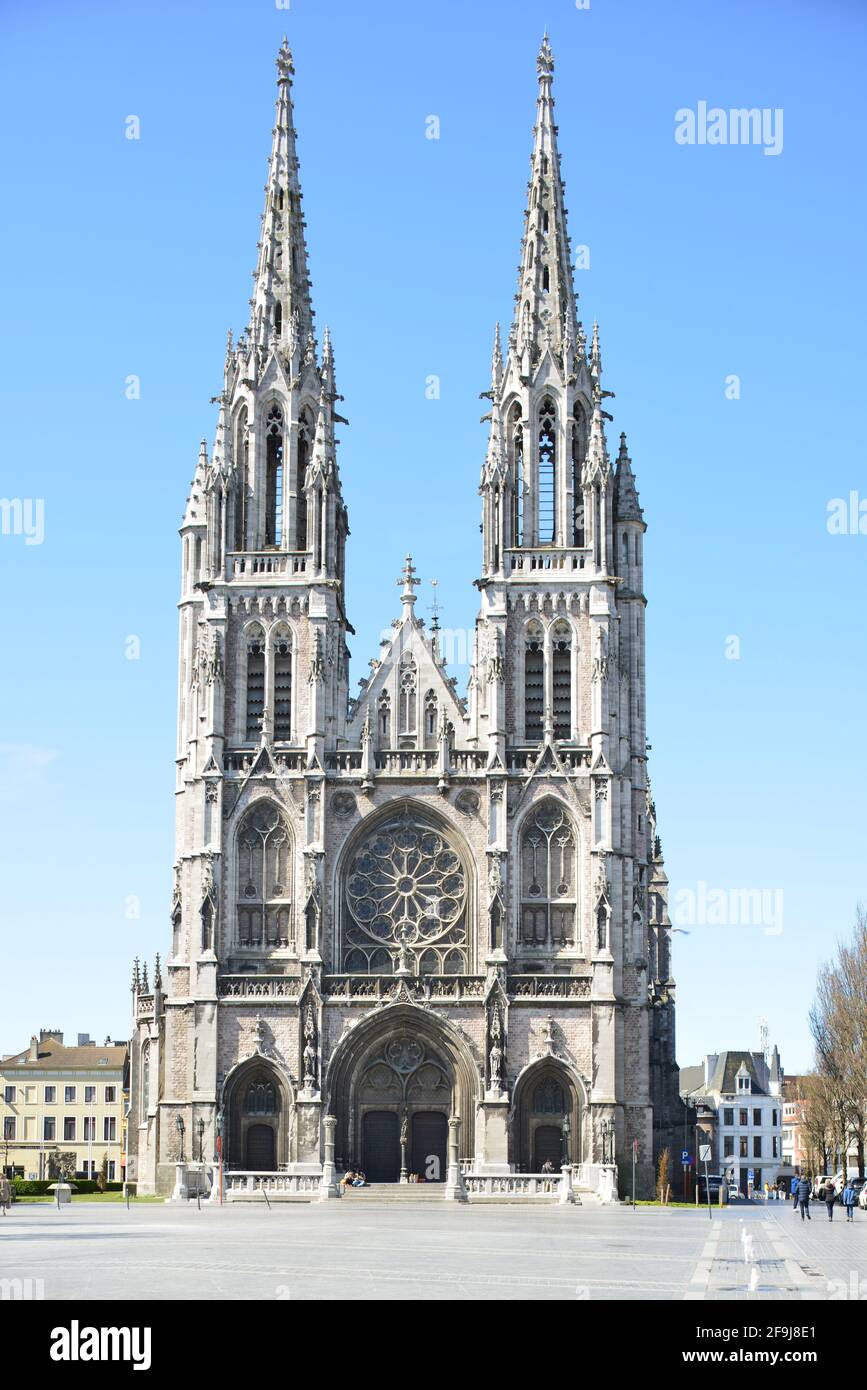
[[[47,1300],[866,1297],[867,1216],[848,1229],[839,1215],[831,1225],[820,1208],[807,1226],[784,1202],[713,1220],[627,1205],[17,1205],[0,1222],[0,1279],[42,1280],[31,1287]]]

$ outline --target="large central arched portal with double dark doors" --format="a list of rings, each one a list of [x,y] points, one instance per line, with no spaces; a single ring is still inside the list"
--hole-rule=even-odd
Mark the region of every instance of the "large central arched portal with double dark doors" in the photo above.
[[[402,1169],[445,1182],[449,1118],[461,1119],[461,1156],[474,1148],[478,1068],[456,1029],[415,1005],[367,1019],[338,1044],[327,1077],[338,1120],[338,1165],[371,1182]]]

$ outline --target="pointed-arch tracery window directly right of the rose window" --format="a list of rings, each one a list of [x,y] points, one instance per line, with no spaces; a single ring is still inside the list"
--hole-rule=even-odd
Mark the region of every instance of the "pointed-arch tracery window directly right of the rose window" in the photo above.
[[[545,801],[521,835],[520,941],[527,947],[574,947],[577,849],[568,815]]]

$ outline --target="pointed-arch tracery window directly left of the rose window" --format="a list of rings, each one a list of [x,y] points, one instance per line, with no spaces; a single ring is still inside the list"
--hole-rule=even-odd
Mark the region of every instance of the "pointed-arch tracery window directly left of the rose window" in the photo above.
[[[238,940],[242,947],[288,947],[292,842],[276,806],[254,806],[238,834]]]

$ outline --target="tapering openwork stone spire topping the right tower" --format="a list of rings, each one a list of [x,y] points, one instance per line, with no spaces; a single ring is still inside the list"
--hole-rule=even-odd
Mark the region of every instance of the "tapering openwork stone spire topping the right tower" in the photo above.
[[[536,124],[511,329],[525,374],[536,366],[547,345],[560,353],[581,336],[552,96],[554,56],[547,33],[539,49],[536,72]]]

